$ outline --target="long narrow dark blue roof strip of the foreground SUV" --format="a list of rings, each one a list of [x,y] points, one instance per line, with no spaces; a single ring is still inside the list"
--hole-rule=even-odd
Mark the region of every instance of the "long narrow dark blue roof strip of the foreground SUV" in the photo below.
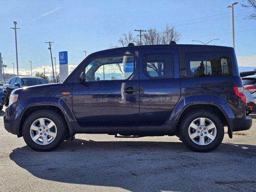
[[[142,48],[174,48],[179,52],[203,52],[203,51],[234,51],[232,47],[215,46],[215,45],[194,45],[194,44],[160,44],[160,45],[139,45],[139,46],[126,46],[112,49],[106,49],[95,53],[118,51],[127,49],[142,49]]]

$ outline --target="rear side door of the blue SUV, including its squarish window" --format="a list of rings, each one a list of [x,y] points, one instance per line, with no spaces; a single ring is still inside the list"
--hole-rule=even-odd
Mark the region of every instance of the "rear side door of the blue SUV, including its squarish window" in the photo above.
[[[140,126],[163,125],[180,98],[178,50],[140,49]]]

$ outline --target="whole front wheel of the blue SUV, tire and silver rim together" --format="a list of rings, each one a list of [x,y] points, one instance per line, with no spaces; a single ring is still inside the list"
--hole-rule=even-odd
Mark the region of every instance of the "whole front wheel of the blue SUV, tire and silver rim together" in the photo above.
[[[26,118],[22,134],[30,148],[50,151],[58,147],[66,137],[66,124],[57,112],[38,110]]]

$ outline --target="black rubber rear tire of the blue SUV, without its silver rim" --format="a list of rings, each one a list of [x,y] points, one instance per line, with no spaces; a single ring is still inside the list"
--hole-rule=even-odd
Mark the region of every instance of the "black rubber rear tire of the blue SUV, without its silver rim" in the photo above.
[[[188,134],[190,124],[193,122],[193,120],[201,117],[208,118],[216,126],[216,137],[214,138],[214,140],[212,140],[212,142],[207,145],[199,145],[194,143],[192,139],[190,139],[190,136]],[[182,142],[191,150],[196,152],[209,152],[216,149],[221,144],[224,138],[224,127],[220,118],[213,112],[210,112],[208,110],[194,110],[182,119],[182,123],[180,126],[180,137],[182,139]]]

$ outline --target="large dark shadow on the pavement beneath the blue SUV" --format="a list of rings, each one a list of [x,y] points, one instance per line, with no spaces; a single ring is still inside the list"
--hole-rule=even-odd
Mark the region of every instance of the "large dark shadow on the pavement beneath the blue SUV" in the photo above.
[[[222,143],[212,152],[196,153],[181,142],[75,139],[52,152],[16,148],[10,158],[38,178],[72,184],[114,186],[134,192],[256,190],[253,145]],[[244,170],[243,166],[250,164],[252,172]],[[230,178],[234,172],[239,172],[237,178]]]

